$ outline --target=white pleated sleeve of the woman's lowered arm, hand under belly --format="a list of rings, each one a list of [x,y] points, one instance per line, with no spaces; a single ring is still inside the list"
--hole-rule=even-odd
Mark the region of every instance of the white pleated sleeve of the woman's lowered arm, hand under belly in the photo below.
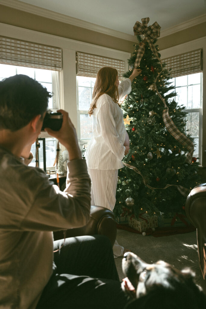
[[[101,135],[104,142],[111,152],[119,159],[124,158],[125,147],[120,142],[119,135],[116,131],[114,120],[114,106],[105,98],[105,102],[100,106],[97,112],[97,121],[99,122]]]

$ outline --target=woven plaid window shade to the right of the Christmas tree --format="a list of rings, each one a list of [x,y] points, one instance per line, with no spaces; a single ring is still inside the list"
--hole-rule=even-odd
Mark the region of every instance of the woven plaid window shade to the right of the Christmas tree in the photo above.
[[[202,72],[202,49],[162,59],[166,62],[166,69],[170,69],[171,77]]]

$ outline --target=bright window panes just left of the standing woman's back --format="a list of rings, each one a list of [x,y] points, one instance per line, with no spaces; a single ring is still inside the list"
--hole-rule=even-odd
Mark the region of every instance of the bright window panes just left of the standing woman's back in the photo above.
[[[92,117],[88,110],[96,78],[77,76],[78,136],[88,142],[92,136]]]

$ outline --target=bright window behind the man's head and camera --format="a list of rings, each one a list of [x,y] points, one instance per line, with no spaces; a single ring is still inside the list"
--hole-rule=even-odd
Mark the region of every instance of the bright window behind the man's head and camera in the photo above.
[[[36,79],[43,87],[46,87],[49,92],[53,94],[52,98],[49,98],[48,108],[57,109],[58,100],[56,85],[58,79],[58,72],[52,70],[43,70],[22,66],[11,66],[6,64],[0,64],[0,80],[13,76],[15,74],[25,74],[31,78]],[[54,160],[56,158],[57,143],[56,138],[45,138],[45,153],[46,153],[46,167],[53,167]],[[35,156],[36,143],[32,145],[31,151]],[[36,166],[35,158],[29,164],[30,166]],[[43,156],[43,139],[40,139],[39,148],[39,167],[44,168],[44,156]]]

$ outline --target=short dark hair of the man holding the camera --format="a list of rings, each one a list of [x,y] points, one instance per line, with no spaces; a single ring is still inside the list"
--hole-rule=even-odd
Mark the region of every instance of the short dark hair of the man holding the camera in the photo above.
[[[43,116],[51,94],[33,78],[19,74],[0,82],[0,129],[17,131]]]

